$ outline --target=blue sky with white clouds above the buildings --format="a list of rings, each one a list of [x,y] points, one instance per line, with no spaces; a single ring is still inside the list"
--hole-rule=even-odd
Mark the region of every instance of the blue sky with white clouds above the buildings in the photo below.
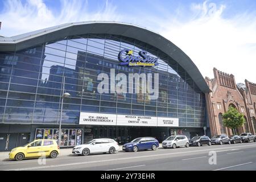
[[[182,49],[203,77],[213,68],[256,83],[255,0],[0,0],[1,36],[63,23],[114,20],[158,32]]]

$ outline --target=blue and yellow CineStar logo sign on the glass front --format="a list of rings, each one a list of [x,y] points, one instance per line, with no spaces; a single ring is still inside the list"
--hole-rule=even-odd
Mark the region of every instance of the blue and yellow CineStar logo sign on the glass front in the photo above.
[[[120,65],[130,67],[152,67],[158,65],[158,57],[148,56],[146,51],[139,51],[139,56],[133,55],[133,50],[123,49],[118,54]]]

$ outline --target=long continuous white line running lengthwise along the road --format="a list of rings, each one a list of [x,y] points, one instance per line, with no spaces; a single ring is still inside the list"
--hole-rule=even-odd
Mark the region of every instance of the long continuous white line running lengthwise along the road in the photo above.
[[[90,162],[80,162],[80,163],[69,163],[69,164],[59,164],[59,165],[51,165],[51,166],[39,166],[39,167],[30,167],[30,168],[18,168],[18,169],[7,169],[5,171],[23,171],[23,170],[31,170],[31,169],[43,169],[43,168],[52,168],[52,167],[65,167],[65,166],[75,166],[75,165],[80,165],[80,164],[91,164],[91,163],[101,163],[101,162],[113,162],[113,161],[119,161],[119,160],[130,160],[130,159],[141,159],[141,158],[151,158],[151,157],[156,157],[156,156],[170,156],[170,155],[179,155],[179,154],[187,154],[187,153],[193,153],[193,152],[203,152],[203,151],[213,151],[213,150],[218,150],[218,149],[228,149],[228,148],[238,148],[238,147],[251,147],[251,146],[256,146],[254,145],[246,145],[246,146],[236,146],[236,147],[224,147],[224,148],[210,148],[210,149],[205,149],[205,150],[196,150],[196,151],[186,151],[186,152],[174,152],[174,153],[167,153],[167,154],[157,154],[157,155],[144,155],[144,156],[133,156],[129,158],[117,158],[117,159],[106,159],[106,160],[94,160]],[[237,149],[232,149],[232,150],[237,150]],[[232,151],[232,150],[227,150],[227,151]],[[217,151],[219,152],[219,151]]]

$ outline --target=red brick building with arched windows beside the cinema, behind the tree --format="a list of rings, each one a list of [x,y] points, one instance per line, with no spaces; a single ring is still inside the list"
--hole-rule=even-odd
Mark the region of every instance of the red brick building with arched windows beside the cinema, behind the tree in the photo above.
[[[245,124],[237,133],[256,133],[256,84],[245,80],[245,84],[236,84],[234,75],[213,69],[214,78],[205,78],[212,92],[205,94],[209,117],[210,133],[232,135],[232,130],[224,127],[222,114],[229,106],[235,107],[245,115]]]

